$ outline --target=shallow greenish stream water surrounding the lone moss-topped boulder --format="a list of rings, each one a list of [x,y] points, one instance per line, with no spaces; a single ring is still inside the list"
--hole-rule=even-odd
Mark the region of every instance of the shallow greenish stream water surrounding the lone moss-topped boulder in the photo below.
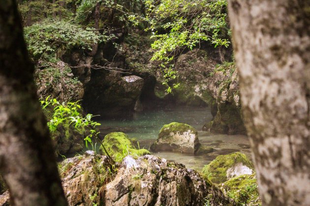
[[[140,148],[149,149],[157,139],[159,130],[163,125],[171,122],[185,123],[198,131],[199,142],[214,148],[214,152],[203,155],[190,155],[161,151],[152,153],[163,157],[169,161],[177,161],[201,171],[204,165],[210,163],[219,154],[229,154],[232,152],[242,152],[249,158],[250,149],[248,137],[245,135],[225,135],[208,131],[202,131],[203,125],[212,120],[210,108],[196,107],[174,107],[156,111],[147,111],[135,114],[130,119],[101,120],[98,129],[103,134],[113,131],[122,131],[131,138],[139,141]]]

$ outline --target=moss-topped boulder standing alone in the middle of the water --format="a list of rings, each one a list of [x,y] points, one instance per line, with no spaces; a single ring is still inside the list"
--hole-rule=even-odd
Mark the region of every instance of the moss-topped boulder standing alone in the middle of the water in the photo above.
[[[183,123],[172,122],[160,129],[158,138],[151,146],[151,150],[196,154],[199,146],[196,129]]]

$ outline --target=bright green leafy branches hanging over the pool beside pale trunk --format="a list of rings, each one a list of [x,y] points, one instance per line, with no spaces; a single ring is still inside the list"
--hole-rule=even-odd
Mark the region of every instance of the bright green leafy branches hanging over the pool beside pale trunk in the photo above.
[[[175,57],[186,48],[192,50],[201,41],[228,47],[230,30],[227,21],[226,0],[147,0],[145,18],[132,15],[138,24],[147,21],[155,41],[152,60],[160,60],[166,84],[178,77]],[[173,88],[178,84],[173,85]],[[171,91],[169,87],[167,91]]]

